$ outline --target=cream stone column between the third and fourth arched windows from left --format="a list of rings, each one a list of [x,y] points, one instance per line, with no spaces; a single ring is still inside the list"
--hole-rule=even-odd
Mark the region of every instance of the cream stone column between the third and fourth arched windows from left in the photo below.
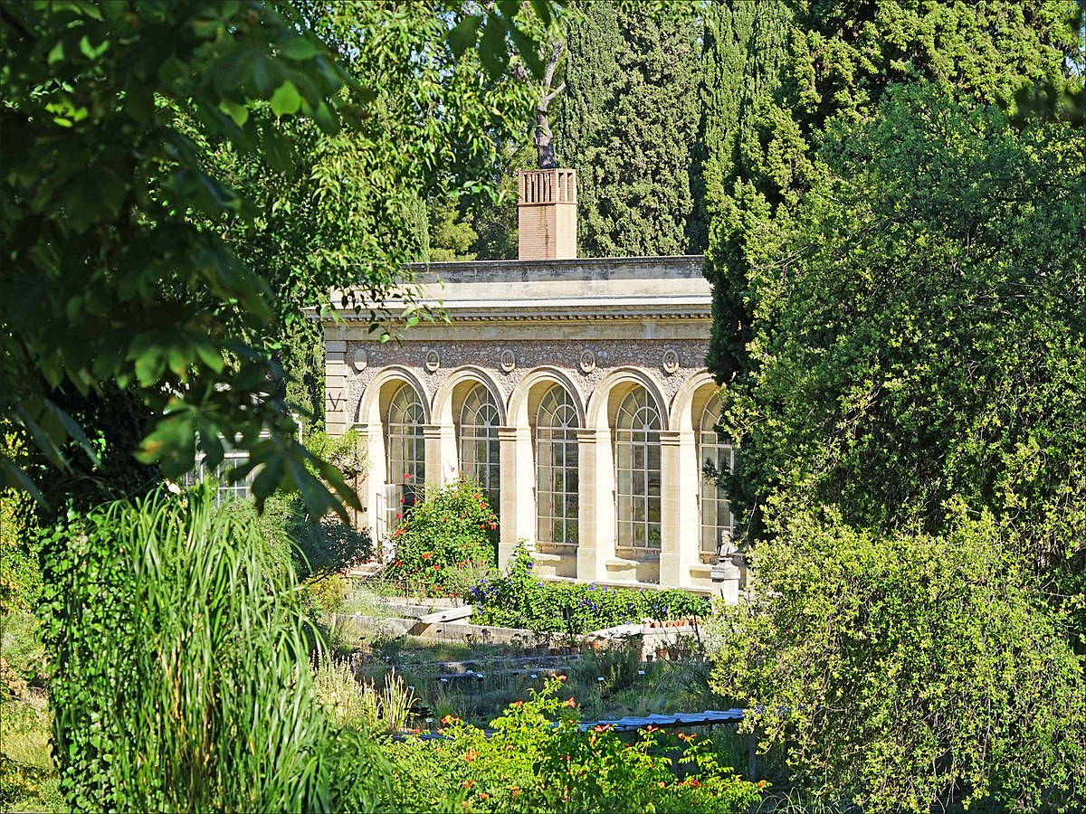
[[[581,462],[577,578],[607,578],[607,561],[615,558],[615,465],[610,430],[578,430]]]

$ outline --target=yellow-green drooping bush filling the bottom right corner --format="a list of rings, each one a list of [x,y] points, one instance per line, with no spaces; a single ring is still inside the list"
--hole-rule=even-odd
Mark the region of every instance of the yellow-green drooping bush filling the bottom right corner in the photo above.
[[[774,508],[756,598],[720,610],[712,686],[805,802],[1082,810],[1083,660],[1010,527],[960,503],[939,536]]]

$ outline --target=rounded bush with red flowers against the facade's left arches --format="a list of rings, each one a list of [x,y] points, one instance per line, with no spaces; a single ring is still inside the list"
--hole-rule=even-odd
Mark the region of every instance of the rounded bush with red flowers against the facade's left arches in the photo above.
[[[430,595],[463,589],[463,573],[494,564],[497,517],[478,485],[427,485],[392,532],[395,552],[386,571]]]

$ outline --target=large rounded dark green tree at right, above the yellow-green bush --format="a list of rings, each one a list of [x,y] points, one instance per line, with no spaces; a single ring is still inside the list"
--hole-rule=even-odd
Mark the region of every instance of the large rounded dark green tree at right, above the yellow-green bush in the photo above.
[[[725,410],[733,492],[932,533],[958,495],[1038,562],[1081,568],[1081,135],[899,88],[821,156],[787,249],[757,269],[755,372]]]

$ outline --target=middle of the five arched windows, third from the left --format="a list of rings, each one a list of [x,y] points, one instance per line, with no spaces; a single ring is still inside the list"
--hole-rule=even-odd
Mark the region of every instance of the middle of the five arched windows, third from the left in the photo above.
[[[577,407],[555,385],[535,414],[535,538],[544,545],[577,545]]]

